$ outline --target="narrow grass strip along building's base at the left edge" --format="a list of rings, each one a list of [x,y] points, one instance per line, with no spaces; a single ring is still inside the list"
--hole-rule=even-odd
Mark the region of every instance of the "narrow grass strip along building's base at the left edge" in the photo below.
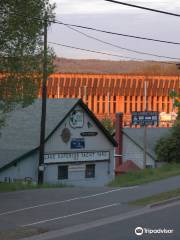
[[[63,184],[34,184],[27,182],[15,182],[15,183],[0,183],[0,192],[12,192],[20,190],[40,189],[40,188],[62,188],[66,187]]]

